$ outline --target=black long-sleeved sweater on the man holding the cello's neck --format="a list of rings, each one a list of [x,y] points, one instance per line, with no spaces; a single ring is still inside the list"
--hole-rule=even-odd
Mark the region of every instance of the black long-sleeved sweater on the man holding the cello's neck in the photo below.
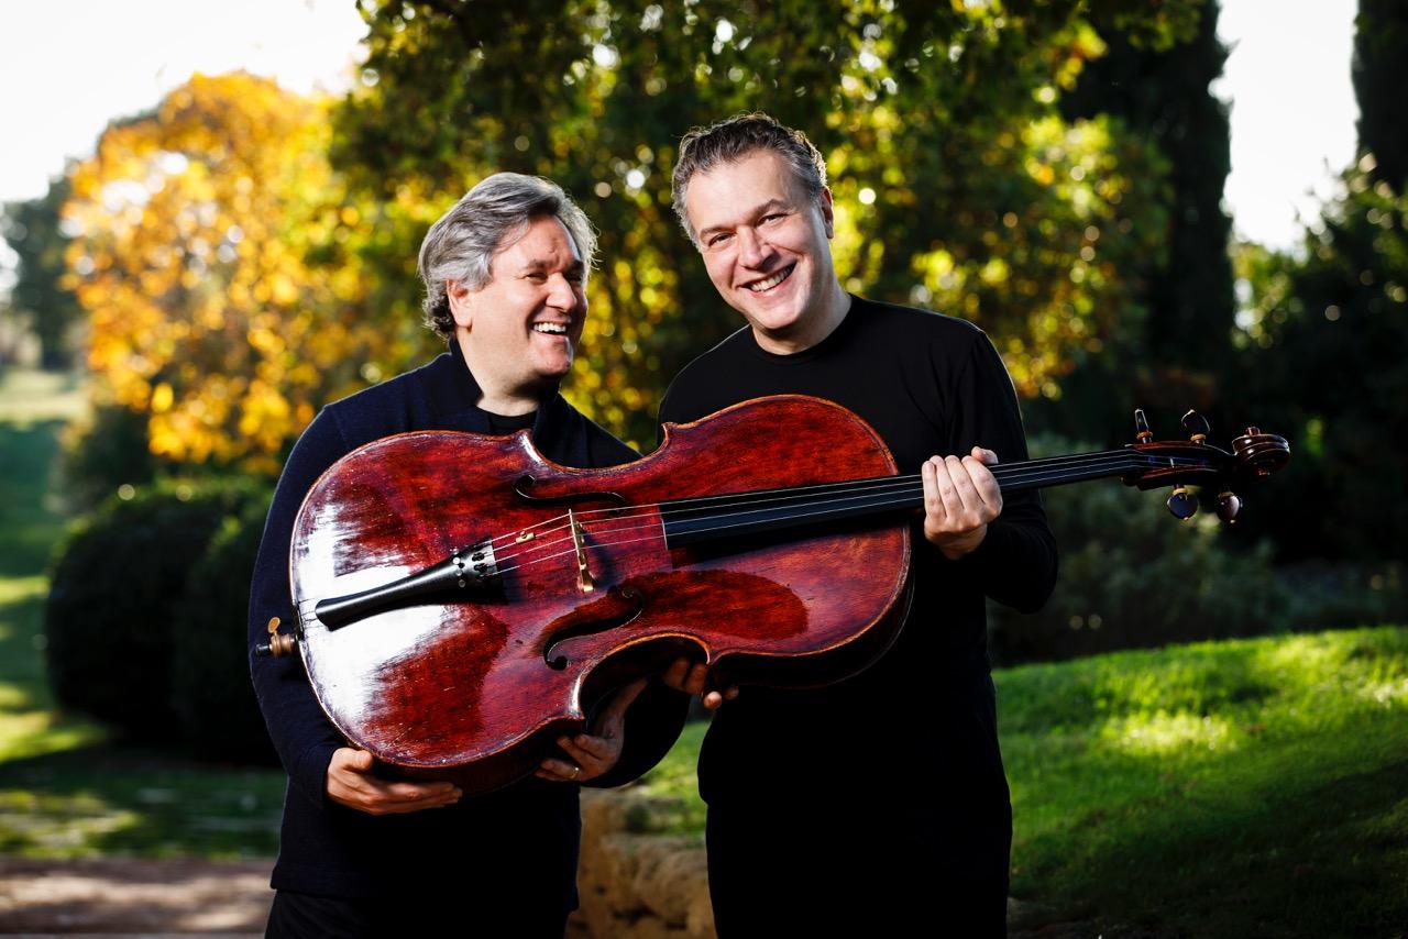
[[[974,445],[1004,463],[1026,459],[1012,383],[981,329],[860,297],[829,336],[794,355],[766,352],[748,328],[735,332],[676,377],[660,421],[694,421],[783,393],[859,414],[901,474]],[[955,750],[948,738],[967,732],[949,717],[991,694],[984,598],[1031,611],[1055,586],[1056,545],[1039,496],[1007,494],[981,545],[957,562],[929,545],[917,522],[910,576],[914,604],[879,663],[826,688],[746,688],[719,710],[700,760],[705,800],[811,793],[836,805],[881,786],[932,786],[963,759],[964,748]]]

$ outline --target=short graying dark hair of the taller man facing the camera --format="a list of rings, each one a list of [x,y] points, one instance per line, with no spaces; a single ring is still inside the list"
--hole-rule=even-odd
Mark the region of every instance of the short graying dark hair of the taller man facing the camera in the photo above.
[[[680,139],[680,155],[670,177],[674,214],[684,234],[694,241],[684,196],[696,173],[707,173],[719,163],[743,159],[753,151],[773,151],[791,168],[793,177],[808,197],[817,198],[826,187],[826,160],[801,131],[784,127],[762,111],[739,114],[712,127],[696,127]]]

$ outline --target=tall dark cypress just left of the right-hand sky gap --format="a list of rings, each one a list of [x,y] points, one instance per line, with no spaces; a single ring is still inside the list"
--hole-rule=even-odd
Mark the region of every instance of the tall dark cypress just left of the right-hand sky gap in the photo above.
[[[1228,253],[1231,220],[1222,189],[1231,170],[1226,106],[1208,90],[1222,75],[1226,49],[1217,35],[1218,4],[1208,0],[1197,28],[1167,48],[1114,31],[1108,52],[1081,73],[1062,101],[1071,118],[1107,114],[1167,159],[1167,252],[1136,269],[1146,318],[1128,348],[1069,383],[1076,407],[1043,408],[1043,425],[1095,435],[1124,427],[1135,405],[1173,420],[1190,407],[1221,418],[1221,389],[1231,367],[1235,298]],[[1111,394],[1112,389],[1119,390]]]

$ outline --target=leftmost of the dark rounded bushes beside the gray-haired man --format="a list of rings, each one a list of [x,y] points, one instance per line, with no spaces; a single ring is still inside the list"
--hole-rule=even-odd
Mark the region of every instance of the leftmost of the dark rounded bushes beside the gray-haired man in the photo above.
[[[111,497],[73,529],[45,607],[61,705],[134,739],[176,739],[172,649],[187,577],[222,521],[255,501],[265,497],[244,481],[162,483]]]

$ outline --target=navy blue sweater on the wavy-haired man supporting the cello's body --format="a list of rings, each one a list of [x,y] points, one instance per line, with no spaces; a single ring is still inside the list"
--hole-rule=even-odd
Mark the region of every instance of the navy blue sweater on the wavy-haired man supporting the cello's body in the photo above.
[[[284,465],[265,522],[249,597],[251,648],[266,624],[294,622],[289,542],[313,483],[358,446],[406,431],[490,432],[476,403],[480,389],[458,344],[428,365],[325,407],[298,438]],[[555,394],[532,425],[538,449],[565,466],[628,463],[635,450]],[[289,773],[279,860],[279,890],[331,897],[387,897],[455,890],[501,900],[576,904],[577,787],[535,777],[442,809],[373,817],[332,802],[324,781],[332,752],[346,746],[328,722],[298,657],[251,657],[251,676],[269,736]],[[627,714],[625,752],[612,773],[593,784],[618,784],[652,766],[673,742],[684,695],[658,684]],[[453,864],[441,859],[451,852]],[[469,891],[466,894],[466,891]]]

